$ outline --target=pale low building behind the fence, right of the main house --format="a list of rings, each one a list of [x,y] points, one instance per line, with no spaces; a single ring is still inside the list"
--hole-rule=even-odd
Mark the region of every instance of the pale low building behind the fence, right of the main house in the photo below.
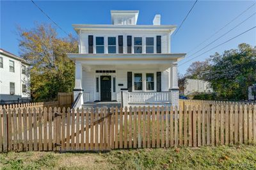
[[[198,79],[186,79],[185,80],[184,95],[193,95],[193,93],[212,93],[211,84],[207,81],[201,81]]]

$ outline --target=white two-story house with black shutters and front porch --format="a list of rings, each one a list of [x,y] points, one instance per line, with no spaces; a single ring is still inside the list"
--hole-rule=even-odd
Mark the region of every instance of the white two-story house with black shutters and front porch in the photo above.
[[[111,11],[112,24],[72,24],[79,37],[74,98],[83,103],[116,101],[129,105],[178,105],[177,61],[171,52],[176,26],[137,25],[138,11]],[[79,99],[79,100],[78,100]]]

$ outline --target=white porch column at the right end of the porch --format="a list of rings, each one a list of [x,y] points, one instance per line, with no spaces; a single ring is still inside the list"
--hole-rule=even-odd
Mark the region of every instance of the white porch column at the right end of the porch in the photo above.
[[[173,106],[179,106],[178,64],[172,63],[170,67],[170,102]]]

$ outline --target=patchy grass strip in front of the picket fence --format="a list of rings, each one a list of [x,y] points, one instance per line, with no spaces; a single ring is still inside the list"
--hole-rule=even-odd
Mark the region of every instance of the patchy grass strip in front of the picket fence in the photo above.
[[[256,169],[256,146],[1,153],[0,169]]]

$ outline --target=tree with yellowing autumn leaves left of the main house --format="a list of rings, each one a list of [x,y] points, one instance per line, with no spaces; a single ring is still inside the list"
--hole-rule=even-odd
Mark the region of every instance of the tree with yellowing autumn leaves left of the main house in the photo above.
[[[22,58],[32,64],[31,97],[34,101],[56,99],[58,92],[74,88],[75,65],[67,53],[78,52],[77,40],[72,35],[58,37],[49,24],[36,24],[33,29],[19,29]]]

